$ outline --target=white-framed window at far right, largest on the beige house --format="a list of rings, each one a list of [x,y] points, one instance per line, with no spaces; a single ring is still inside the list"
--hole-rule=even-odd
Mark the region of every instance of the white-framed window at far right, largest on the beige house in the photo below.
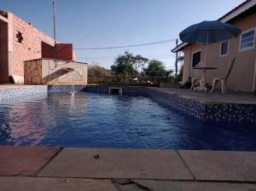
[[[255,29],[248,32],[241,33],[240,49],[253,49],[254,48]]]

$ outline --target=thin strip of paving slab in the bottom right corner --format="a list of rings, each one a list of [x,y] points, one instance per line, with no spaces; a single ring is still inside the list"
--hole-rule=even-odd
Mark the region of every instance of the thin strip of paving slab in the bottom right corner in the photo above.
[[[154,191],[255,191],[256,184],[227,182],[180,182],[134,180],[137,184]]]

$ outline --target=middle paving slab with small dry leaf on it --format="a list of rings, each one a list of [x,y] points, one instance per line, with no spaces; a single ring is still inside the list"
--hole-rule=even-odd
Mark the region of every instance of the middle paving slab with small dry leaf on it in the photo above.
[[[192,179],[176,151],[104,148],[64,148],[38,176]]]

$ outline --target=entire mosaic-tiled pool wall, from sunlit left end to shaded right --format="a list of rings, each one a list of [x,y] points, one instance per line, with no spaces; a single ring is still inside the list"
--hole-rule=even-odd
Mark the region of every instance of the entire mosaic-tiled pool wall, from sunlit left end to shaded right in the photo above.
[[[35,85],[23,88],[0,89],[0,101],[32,95],[44,95],[47,93],[71,92],[73,90],[108,94],[110,87],[120,88],[120,86],[104,85],[74,87],[66,85]],[[123,86],[122,94],[124,96],[148,96],[166,107],[175,108],[183,113],[205,121],[248,122],[256,124],[256,105],[253,104],[201,102],[150,87]]]

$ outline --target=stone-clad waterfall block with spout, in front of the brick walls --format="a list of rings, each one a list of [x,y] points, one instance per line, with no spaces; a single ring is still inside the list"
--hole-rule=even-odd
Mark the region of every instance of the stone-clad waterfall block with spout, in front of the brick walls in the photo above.
[[[87,64],[38,59],[25,61],[25,84],[86,85]],[[70,72],[70,69],[73,72]]]

